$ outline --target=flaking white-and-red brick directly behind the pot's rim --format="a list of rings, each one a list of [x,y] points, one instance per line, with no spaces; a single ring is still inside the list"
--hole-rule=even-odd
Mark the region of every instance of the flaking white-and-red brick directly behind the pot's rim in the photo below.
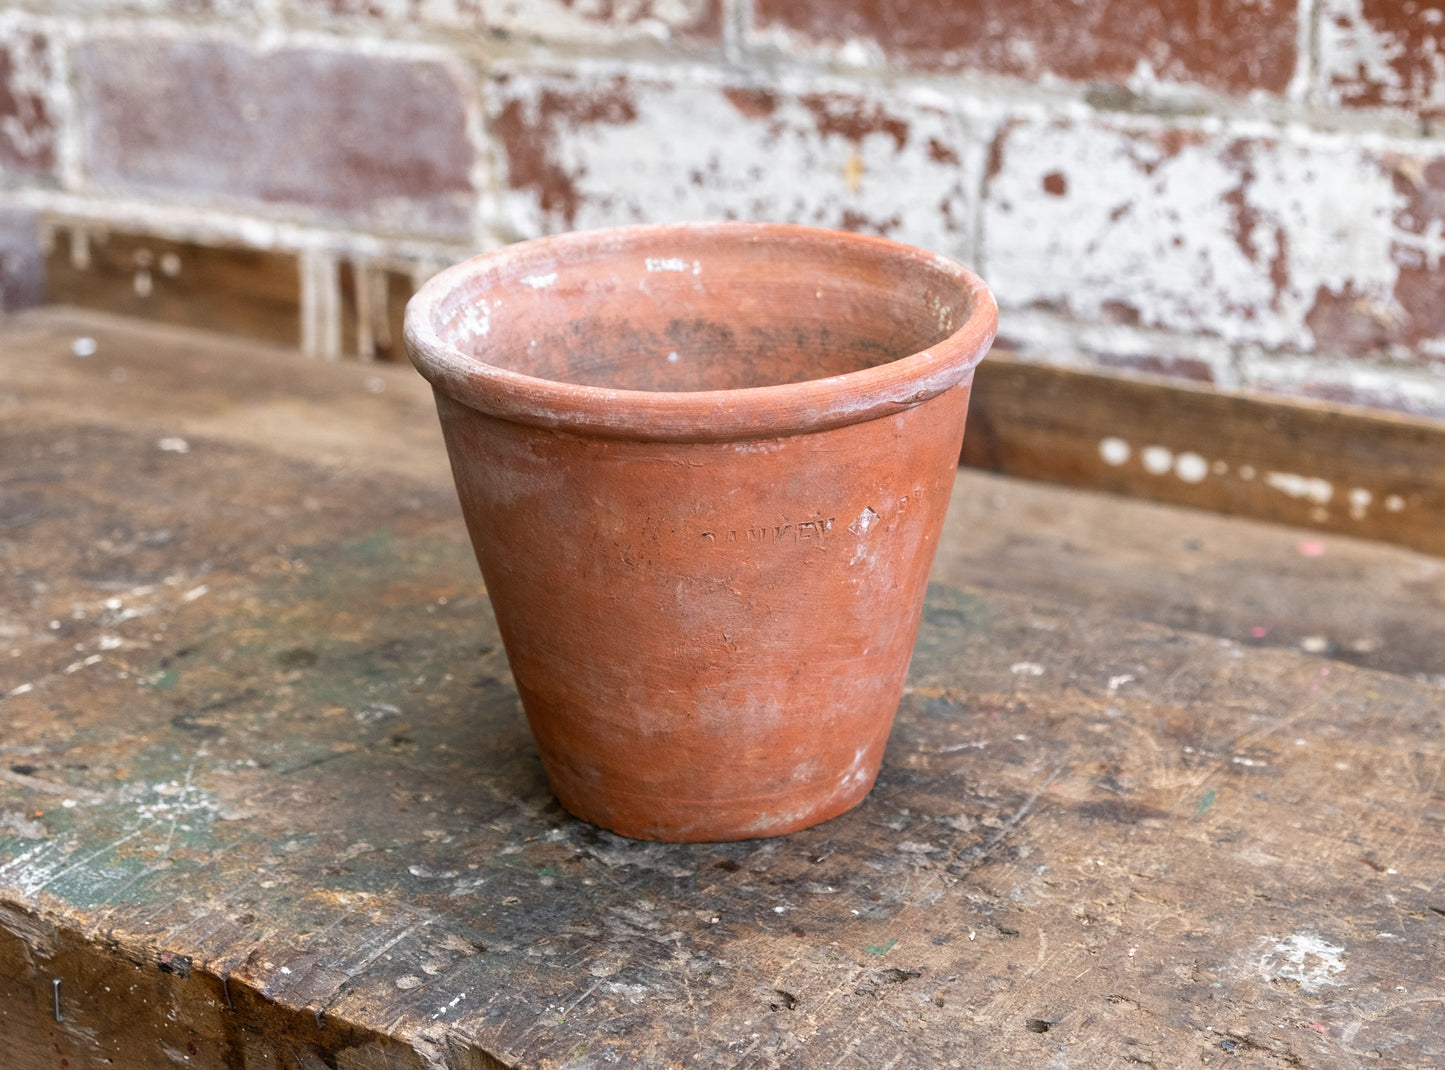
[[[972,257],[984,137],[938,97],[512,69],[488,98],[509,237],[747,218]]]

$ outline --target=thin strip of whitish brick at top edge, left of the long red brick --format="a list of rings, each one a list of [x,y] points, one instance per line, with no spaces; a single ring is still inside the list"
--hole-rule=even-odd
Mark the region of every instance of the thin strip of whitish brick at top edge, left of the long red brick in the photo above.
[[[722,38],[722,0],[289,0],[311,17],[370,19],[481,29],[499,36],[605,42],[678,38],[689,43]]]

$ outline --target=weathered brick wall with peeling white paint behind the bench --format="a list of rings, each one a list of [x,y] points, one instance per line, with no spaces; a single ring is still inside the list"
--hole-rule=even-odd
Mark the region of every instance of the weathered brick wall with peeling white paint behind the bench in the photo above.
[[[0,296],[36,220],[264,249],[377,353],[474,250],[788,220],[975,265],[1038,359],[1445,418],[1442,120],[1438,0],[13,0]]]

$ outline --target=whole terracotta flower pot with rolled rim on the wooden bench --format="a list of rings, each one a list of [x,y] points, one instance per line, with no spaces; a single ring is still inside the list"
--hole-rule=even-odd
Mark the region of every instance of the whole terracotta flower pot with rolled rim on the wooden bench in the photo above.
[[[949,260],[772,224],[562,234],[416,294],[564,807],[736,840],[868,792],[996,321]]]

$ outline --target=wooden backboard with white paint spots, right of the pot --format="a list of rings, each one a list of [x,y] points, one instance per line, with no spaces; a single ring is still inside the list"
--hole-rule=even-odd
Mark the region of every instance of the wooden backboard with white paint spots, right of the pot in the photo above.
[[[1445,554],[1445,425],[1023,363],[980,366],[962,461]]]

